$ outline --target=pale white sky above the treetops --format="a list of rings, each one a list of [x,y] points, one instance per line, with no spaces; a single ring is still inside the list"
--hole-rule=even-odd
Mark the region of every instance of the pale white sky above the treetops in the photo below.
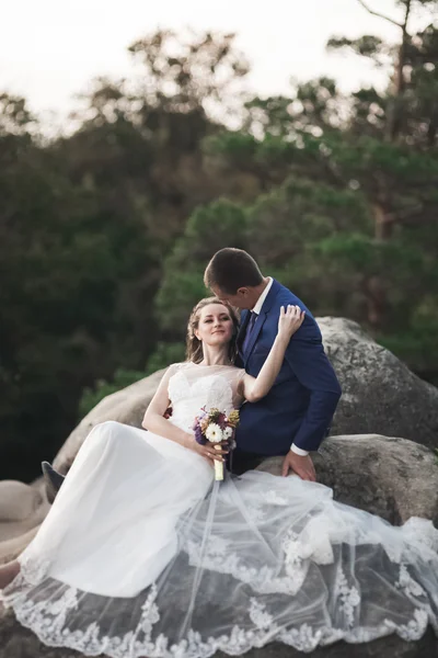
[[[400,18],[394,0],[368,4]],[[126,48],[158,27],[235,32],[249,58],[249,89],[287,93],[290,78],[334,77],[349,92],[382,87],[385,75],[354,56],[328,55],[334,35],[377,34],[396,42],[399,29],[364,10],[358,0],[20,0],[2,8],[0,93],[24,95],[45,122],[65,125],[96,76],[132,70]]]

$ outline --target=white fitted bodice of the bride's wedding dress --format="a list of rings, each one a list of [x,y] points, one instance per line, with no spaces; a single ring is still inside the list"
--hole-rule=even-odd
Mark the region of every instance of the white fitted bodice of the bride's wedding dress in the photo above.
[[[192,431],[194,420],[203,407],[207,411],[216,407],[227,415],[239,408],[243,400],[238,388],[243,375],[243,370],[229,365],[171,365],[171,421],[185,431]]]

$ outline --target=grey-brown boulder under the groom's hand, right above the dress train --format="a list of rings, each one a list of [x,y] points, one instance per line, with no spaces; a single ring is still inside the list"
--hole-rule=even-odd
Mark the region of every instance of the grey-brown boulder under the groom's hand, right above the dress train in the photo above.
[[[408,441],[356,434],[330,436],[312,453],[319,483],[334,499],[400,525],[410,517],[438,525],[438,457]],[[281,473],[283,457],[265,460],[258,469]]]

